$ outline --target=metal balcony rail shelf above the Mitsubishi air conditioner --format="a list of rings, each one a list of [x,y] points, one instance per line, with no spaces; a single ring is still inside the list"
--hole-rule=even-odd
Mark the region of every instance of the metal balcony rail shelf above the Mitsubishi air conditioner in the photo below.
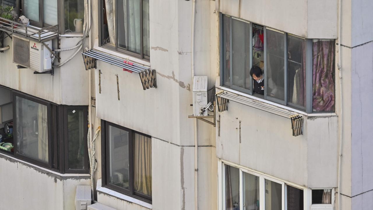
[[[58,37],[58,25],[39,28],[32,25],[24,25],[15,21],[11,21],[0,17],[0,30],[9,34],[19,34],[20,37],[25,37],[38,42],[49,41]]]

